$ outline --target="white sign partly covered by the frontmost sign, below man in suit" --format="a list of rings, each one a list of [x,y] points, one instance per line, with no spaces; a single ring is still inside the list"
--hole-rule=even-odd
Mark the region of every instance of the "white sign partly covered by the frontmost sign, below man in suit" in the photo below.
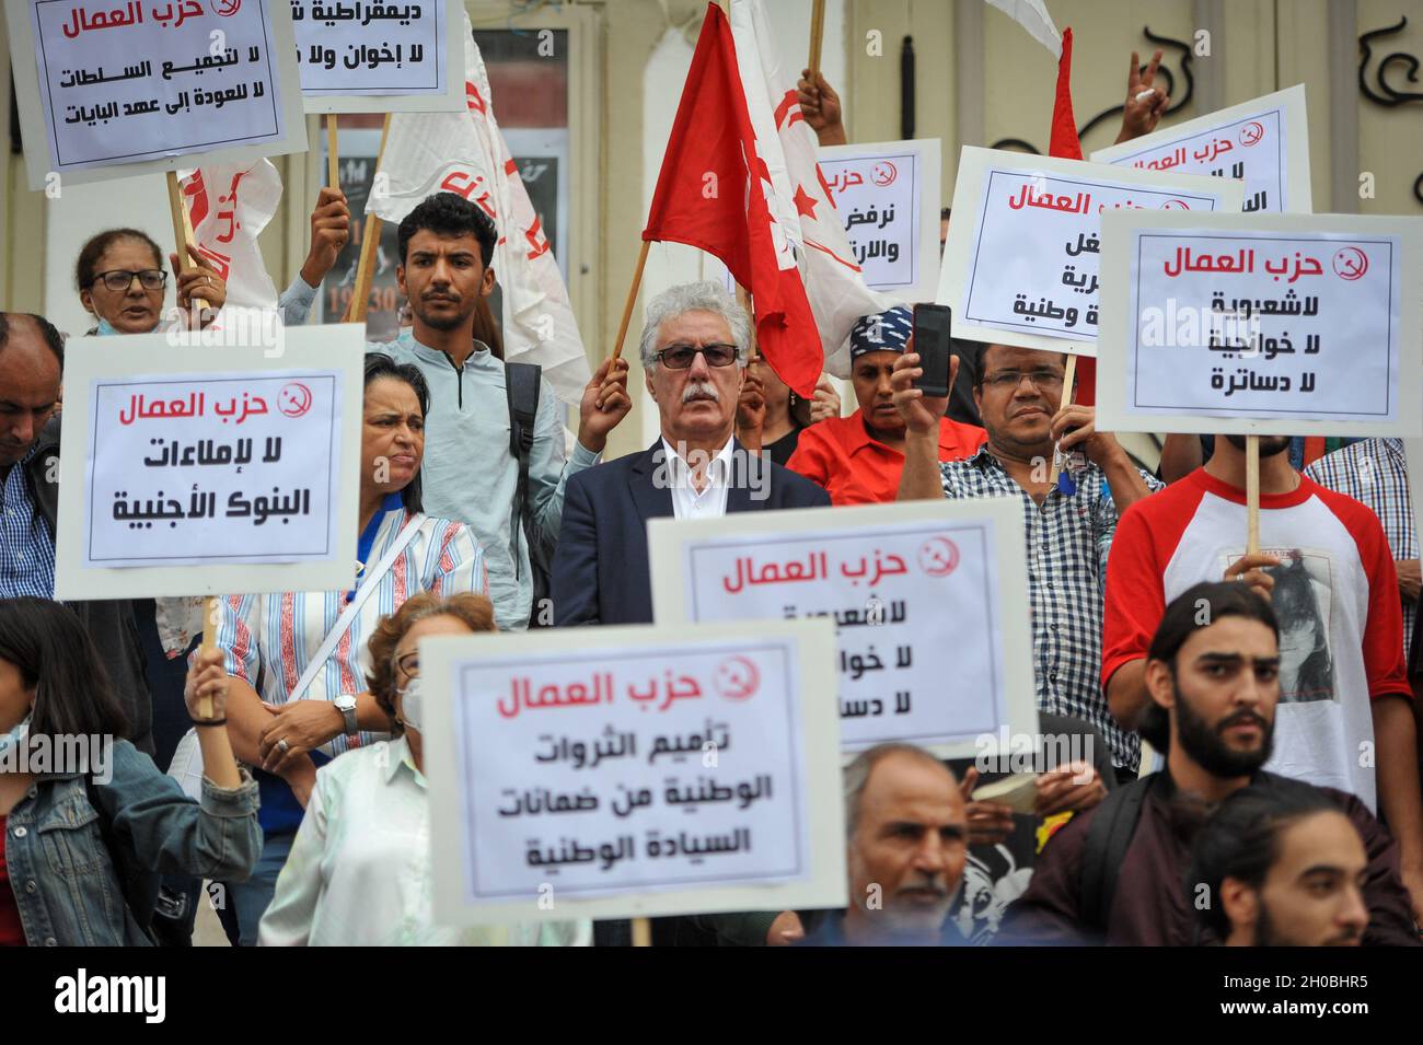
[[[845,751],[963,758],[1037,729],[1023,542],[1015,498],[652,519],[653,614],[830,617]]]

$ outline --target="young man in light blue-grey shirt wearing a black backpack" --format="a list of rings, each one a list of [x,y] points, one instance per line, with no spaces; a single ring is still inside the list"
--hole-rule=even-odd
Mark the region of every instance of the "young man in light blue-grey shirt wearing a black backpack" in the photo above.
[[[598,463],[608,434],[628,415],[632,400],[628,363],[605,360],[583,391],[578,445],[565,462],[564,411],[542,382],[528,488],[519,496],[504,360],[474,338],[475,309],[494,290],[490,263],[497,237],[488,215],[453,192],[437,192],[411,210],[400,223],[396,279],[410,301],[413,324],[396,341],[371,350],[411,363],[425,375],[425,510],[467,523],[480,537],[495,623],[508,631],[528,626],[531,559],[554,557],[565,483]]]

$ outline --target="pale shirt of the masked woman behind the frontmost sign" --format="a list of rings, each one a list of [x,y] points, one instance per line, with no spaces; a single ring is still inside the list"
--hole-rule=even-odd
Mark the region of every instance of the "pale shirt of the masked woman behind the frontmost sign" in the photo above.
[[[593,923],[458,928],[431,916],[425,778],[401,736],[316,771],[302,827],[262,917],[262,947],[589,945]]]

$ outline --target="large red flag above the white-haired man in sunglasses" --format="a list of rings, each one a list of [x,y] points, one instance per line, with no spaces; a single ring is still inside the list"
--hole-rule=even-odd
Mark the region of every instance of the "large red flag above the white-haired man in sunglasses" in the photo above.
[[[761,354],[810,398],[824,353],[795,256],[766,202],[770,188],[731,30],[721,9],[709,4],[642,237],[720,257],[751,293]]]

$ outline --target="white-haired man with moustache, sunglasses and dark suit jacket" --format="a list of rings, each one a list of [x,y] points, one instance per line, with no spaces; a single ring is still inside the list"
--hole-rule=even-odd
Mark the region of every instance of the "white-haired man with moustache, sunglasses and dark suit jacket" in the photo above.
[[[750,317],[719,283],[676,286],[647,304],[642,365],[662,435],[568,481],[552,570],[558,626],[652,623],[647,519],[830,505],[814,482],[731,435],[750,337]]]

